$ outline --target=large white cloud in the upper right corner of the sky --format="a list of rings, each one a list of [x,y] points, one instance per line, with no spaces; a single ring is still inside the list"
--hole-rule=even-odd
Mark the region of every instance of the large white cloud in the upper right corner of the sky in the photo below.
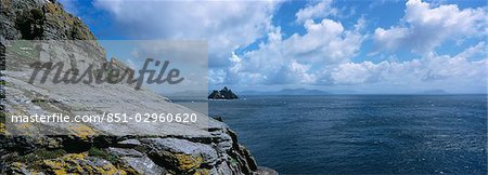
[[[406,5],[400,25],[374,31],[376,52],[403,48],[426,54],[448,40],[486,35],[486,8],[460,10],[455,4],[434,6],[421,0]]]

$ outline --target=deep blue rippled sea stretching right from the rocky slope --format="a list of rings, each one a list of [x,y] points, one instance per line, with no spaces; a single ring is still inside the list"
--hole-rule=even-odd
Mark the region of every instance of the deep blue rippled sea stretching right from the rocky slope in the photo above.
[[[282,174],[487,174],[486,95],[244,98],[209,115]]]

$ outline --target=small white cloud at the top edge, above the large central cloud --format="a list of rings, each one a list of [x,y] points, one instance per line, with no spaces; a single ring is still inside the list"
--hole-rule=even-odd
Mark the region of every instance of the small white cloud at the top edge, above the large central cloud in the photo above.
[[[332,0],[322,0],[313,5],[300,9],[296,14],[296,22],[301,23],[311,18],[326,17],[329,15],[337,15],[338,10],[332,8]]]

